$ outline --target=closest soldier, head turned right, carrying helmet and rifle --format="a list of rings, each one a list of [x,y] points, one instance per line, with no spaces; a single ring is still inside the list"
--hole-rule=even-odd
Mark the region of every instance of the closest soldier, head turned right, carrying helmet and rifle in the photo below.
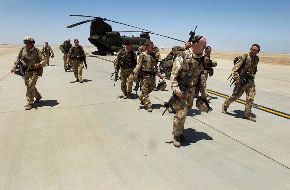
[[[173,118],[173,144],[176,147],[180,147],[180,141],[187,142],[187,138],[182,135],[182,131],[188,109],[191,109],[193,105],[197,83],[202,89],[201,97],[205,97],[204,83],[201,80],[201,74],[204,70],[204,56],[202,53],[205,47],[206,39],[203,36],[195,36],[192,40],[192,47],[185,51],[184,58],[182,54],[179,54],[173,64],[170,82],[173,93],[177,96],[173,103],[176,110]],[[186,92],[182,94],[178,81],[182,81],[185,74],[188,74],[190,78],[185,86],[187,88]]]

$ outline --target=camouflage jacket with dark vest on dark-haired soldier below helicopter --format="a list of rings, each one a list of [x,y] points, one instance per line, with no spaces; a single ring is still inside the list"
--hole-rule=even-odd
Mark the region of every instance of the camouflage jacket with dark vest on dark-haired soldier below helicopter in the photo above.
[[[132,54],[134,55],[134,58],[132,58]],[[137,65],[136,52],[133,49],[127,51],[126,48],[123,48],[121,51],[118,52],[117,59],[114,62],[115,70],[117,69],[118,64],[120,64],[121,68],[130,67],[134,69]]]

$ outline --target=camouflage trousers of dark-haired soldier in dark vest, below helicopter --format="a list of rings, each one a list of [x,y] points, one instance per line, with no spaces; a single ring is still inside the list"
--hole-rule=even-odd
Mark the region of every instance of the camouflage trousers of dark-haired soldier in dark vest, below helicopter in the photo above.
[[[132,93],[133,68],[121,68],[121,90],[124,94]],[[127,90],[128,83],[128,90]]]

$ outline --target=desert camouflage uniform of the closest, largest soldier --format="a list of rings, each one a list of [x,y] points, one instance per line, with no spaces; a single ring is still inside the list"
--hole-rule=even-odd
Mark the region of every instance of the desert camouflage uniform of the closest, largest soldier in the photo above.
[[[186,83],[186,86],[188,87],[187,92],[183,94],[182,98],[177,97],[176,101],[173,103],[173,107],[176,110],[176,114],[173,118],[173,133],[175,136],[180,136],[182,134],[188,109],[191,109],[193,105],[194,93],[197,83],[202,89],[201,93],[205,92],[204,83],[201,77],[201,74],[204,70],[201,61],[202,59],[203,54],[195,55],[192,52],[192,49],[189,49],[185,51],[184,59],[182,58],[182,55],[179,54],[174,61],[170,82],[173,93],[175,94],[180,91],[178,81],[182,81],[185,73],[191,75],[195,68],[198,67]]]

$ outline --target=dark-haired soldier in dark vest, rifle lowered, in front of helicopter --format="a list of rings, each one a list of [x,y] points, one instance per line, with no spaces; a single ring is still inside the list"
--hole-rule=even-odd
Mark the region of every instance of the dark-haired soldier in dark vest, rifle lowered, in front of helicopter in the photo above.
[[[117,67],[121,68],[121,90],[124,93],[124,99],[132,99],[132,86],[133,86],[133,69],[137,65],[137,55],[132,49],[133,42],[127,40],[125,47],[118,52],[117,59],[114,62],[115,72],[117,73]],[[128,83],[128,90],[126,86]]]

